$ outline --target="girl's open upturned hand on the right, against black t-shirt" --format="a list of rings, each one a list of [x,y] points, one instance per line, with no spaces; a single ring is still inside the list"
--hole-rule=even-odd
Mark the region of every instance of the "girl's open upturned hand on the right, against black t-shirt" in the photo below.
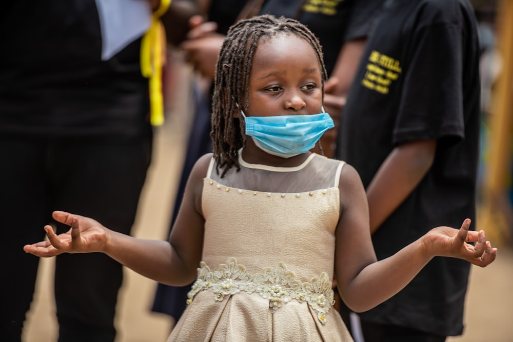
[[[497,248],[486,241],[484,231],[469,231],[469,227],[467,218],[460,229],[433,228],[424,236],[424,244],[431,255],[456,257],[486,267],[495,260]]]

